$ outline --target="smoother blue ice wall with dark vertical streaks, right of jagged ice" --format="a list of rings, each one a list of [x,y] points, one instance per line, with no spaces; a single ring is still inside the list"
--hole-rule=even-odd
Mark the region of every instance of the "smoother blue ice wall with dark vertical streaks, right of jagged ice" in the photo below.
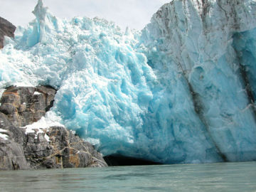
[[[172,1],[142,35],[152,68],[185,79],[226,161],[255,159],[255,9],[255,1]]]

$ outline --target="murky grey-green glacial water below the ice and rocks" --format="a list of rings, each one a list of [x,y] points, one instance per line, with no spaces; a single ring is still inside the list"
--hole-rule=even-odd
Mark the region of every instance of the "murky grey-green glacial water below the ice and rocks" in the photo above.
[[[1,171],[0,191],[256,191],[256,162]]]

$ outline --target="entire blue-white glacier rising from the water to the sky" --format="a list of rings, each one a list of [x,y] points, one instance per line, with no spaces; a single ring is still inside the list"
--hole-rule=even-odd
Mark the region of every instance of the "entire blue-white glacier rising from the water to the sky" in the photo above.
[[[5,38],[5,87],[58,89],[46,119],[105,156],[163,164],[256,159],[256,1],[173,0],[142,31],[36,19]]]

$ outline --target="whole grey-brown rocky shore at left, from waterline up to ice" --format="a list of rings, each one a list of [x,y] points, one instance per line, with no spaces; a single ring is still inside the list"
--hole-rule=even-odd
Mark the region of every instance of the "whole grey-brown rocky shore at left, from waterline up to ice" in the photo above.
[[[26,133],[53,106],[52,87],[9,87],[0,106],[0,170],[107,166],[102,155],[65,127]]]

